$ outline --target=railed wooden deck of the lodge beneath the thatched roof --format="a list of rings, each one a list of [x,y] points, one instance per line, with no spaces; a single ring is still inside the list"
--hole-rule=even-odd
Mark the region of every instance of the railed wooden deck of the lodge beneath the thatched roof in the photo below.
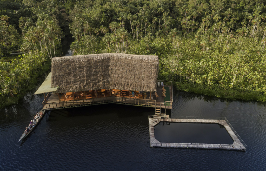
[[[170,83],[170,84],[169,84]],[[43,101],[44,110],[60,109],[60,108],[69,108],[69,107],[78,107],[78,106],[89,106],[89,105],[98,105],[102,103],[121,103],[127,105],[136,105],[136,106],[147,106],[147,107],[157,107],[163,109],[172,109],[173,103],[173,92],[172,92],[172,82],[168,81],[170,91],[170,101],[168,103],[164,102],[164,97],[162,96],[162,87],[157,87],[157,94],[159,95],[156,98],[155,93],[153,92],[150,97],[150,93],[146,93],[147,97],[144,98],[144,95],[135,96],[129,94],[119,94],[113,95],[109,91],[105,91],[104,95],[92,94],[91,97],[79,96],[73,98],[65,98],[63,94],[54,94],[48,93],[46,96],[47,102]],[[59,101],[60,98],[60,101]]]

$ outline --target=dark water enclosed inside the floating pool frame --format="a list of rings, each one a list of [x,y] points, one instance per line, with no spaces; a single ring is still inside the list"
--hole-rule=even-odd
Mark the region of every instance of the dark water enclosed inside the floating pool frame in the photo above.
[[[234,143],[225,127],[218,123],[159,122],[154,135],[161,143]]]

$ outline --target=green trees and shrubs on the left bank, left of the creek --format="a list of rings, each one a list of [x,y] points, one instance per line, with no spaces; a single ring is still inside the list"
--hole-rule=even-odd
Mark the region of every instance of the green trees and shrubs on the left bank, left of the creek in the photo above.
[[[0,2],[0,107],[22,97],[35,85],[48,57],[56,56],[62,28],[68,27],[62,9],[64,5],[56,0]],[[15,49],[24,52],[22,57],[6,62],[6,55]]]

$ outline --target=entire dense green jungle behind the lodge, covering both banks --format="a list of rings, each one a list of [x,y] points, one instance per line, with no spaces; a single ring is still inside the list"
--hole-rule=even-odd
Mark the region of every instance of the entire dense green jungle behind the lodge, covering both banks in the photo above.
[[[158,79],[178,89],[266,101],[265,18],[265,0],[2,0],[1,104],[27,90],[68,34],[75,55],[158,55]],[[14,49],[23,55],[7,62]]]

